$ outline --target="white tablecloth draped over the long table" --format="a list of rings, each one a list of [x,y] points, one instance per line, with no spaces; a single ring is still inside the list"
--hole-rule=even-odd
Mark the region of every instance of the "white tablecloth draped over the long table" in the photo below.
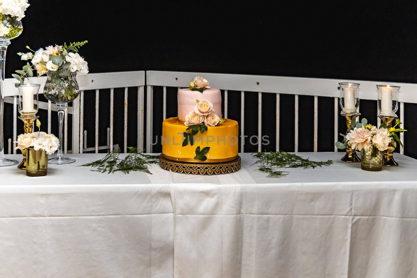
[[[0,277],[417,277],[417,160],[266,178],[0,168]],[[9,158],[20,159],[20,155]]]

